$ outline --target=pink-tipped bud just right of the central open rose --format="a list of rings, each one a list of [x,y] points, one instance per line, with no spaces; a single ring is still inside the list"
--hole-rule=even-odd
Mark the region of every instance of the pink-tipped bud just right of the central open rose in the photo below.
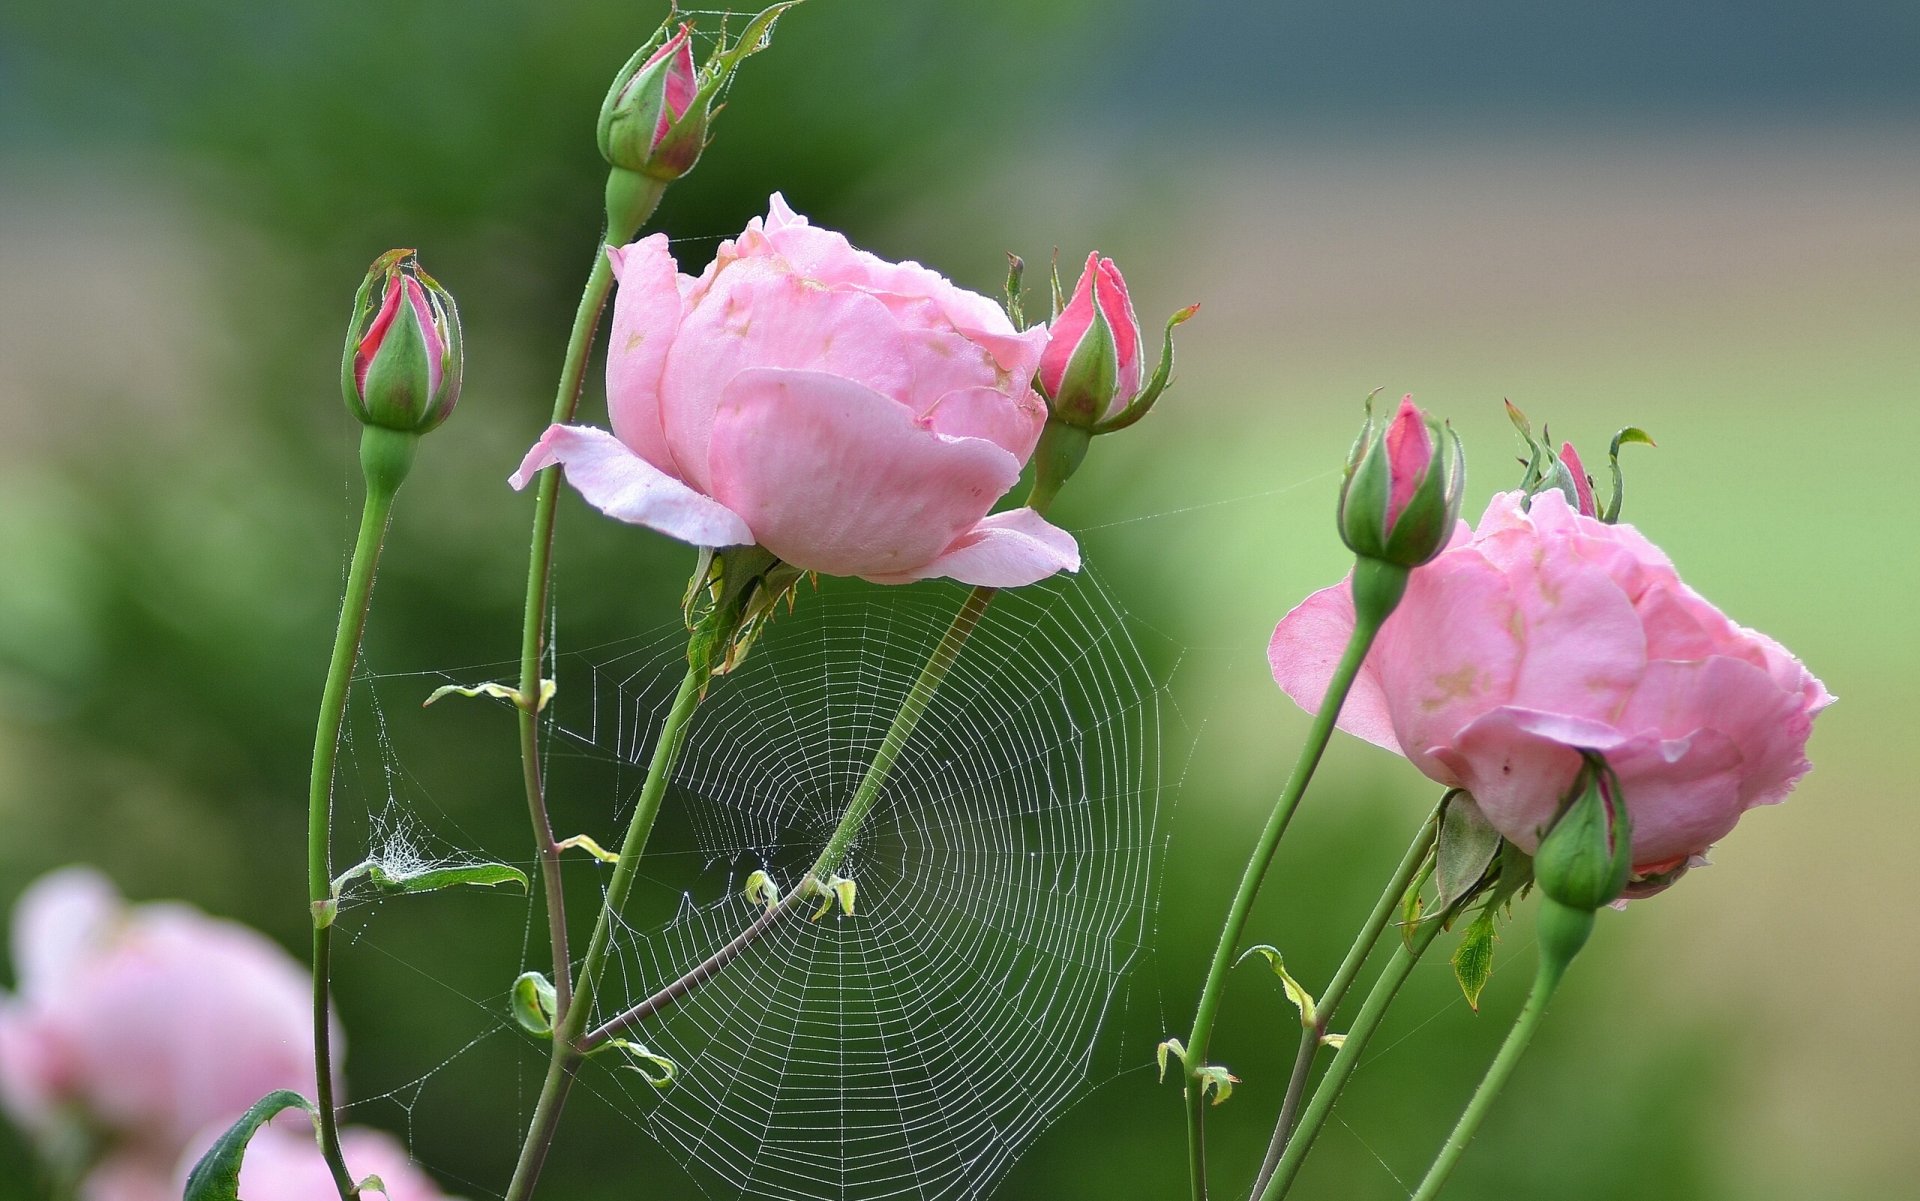
[[[1114,259],[1087,255],[1073,299],[1046,332],[1041,388],[1054,416],[1092,426],[1140,395],[1140,318]]]

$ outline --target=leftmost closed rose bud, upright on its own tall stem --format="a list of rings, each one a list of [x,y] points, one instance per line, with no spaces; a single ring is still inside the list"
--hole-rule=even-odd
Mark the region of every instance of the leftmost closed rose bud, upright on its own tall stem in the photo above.
[[[353,295],[340,361],[348,409],[367,426],[426,434],[461,395],[461,317],[411,249],[390,249]]]

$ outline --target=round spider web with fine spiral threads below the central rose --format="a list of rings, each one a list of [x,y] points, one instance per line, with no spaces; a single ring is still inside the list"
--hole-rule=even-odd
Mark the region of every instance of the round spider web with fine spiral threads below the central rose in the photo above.
[[[643,865],[672,915],[620,929],[599,1019],[745,929],[753,871],[801,879],[962,599],[803,587],[714,681]],[[559,662],[555,771],[611,760],[622,823],[684,643],[670,627]],[[1096,579],[996,597],[841,865],[854,913],[776,923],[628,1032],[678,1065],[668,1088],[584,1084],[708,1197],[987,1195],[1075,1097],[1144,1061],[1102,1026],[1135,1000],[1152,925],[1162,693]]]

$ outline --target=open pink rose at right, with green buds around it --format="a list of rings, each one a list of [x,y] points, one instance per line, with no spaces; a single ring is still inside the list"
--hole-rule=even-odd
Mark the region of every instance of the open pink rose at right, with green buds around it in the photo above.
[[[1340,712],[1340,729],[1473,792],[1534,850],[1586,748],[1619,773],[1640,877],[1678,871],[1807,773],[1832,696],[1791,654],[1680,583],[1632,526],[1542,491],[1496,495],[1413,572]],[[1281,620],[1267,658],[1317,710],[1354,627],[1348,587]]]

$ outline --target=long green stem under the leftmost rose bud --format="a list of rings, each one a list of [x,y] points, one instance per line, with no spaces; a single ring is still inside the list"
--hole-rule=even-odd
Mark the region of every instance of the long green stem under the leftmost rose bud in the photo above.
[[[313,731],[313,773],[307,785],[315,1115],[319,1120],[321,1155],[326,1159],[334,1188],[344,1201],[351,1201],[359,1189],[340,1155],[340,1119],[334,1113],[332,915],[323,913],[323,907],[332,900],[334,765],[340,758],[340,731],[346,723],[353,664],[359,658],[361,635],[367,631],[367,610],[372,606],[372,581],[374,570],[380,564],[380,543],[394,514],[394,497],[413,462],[415,443],[417,436],[413,434],[396,434],[378,426],[367,426],[361,434],[361,472],[367,480],[367,499],[361,505],[359,535],[353,539],[346,597],[340,600],[334,654],[326,664],[326,685],[321,689],[321,716]]]

